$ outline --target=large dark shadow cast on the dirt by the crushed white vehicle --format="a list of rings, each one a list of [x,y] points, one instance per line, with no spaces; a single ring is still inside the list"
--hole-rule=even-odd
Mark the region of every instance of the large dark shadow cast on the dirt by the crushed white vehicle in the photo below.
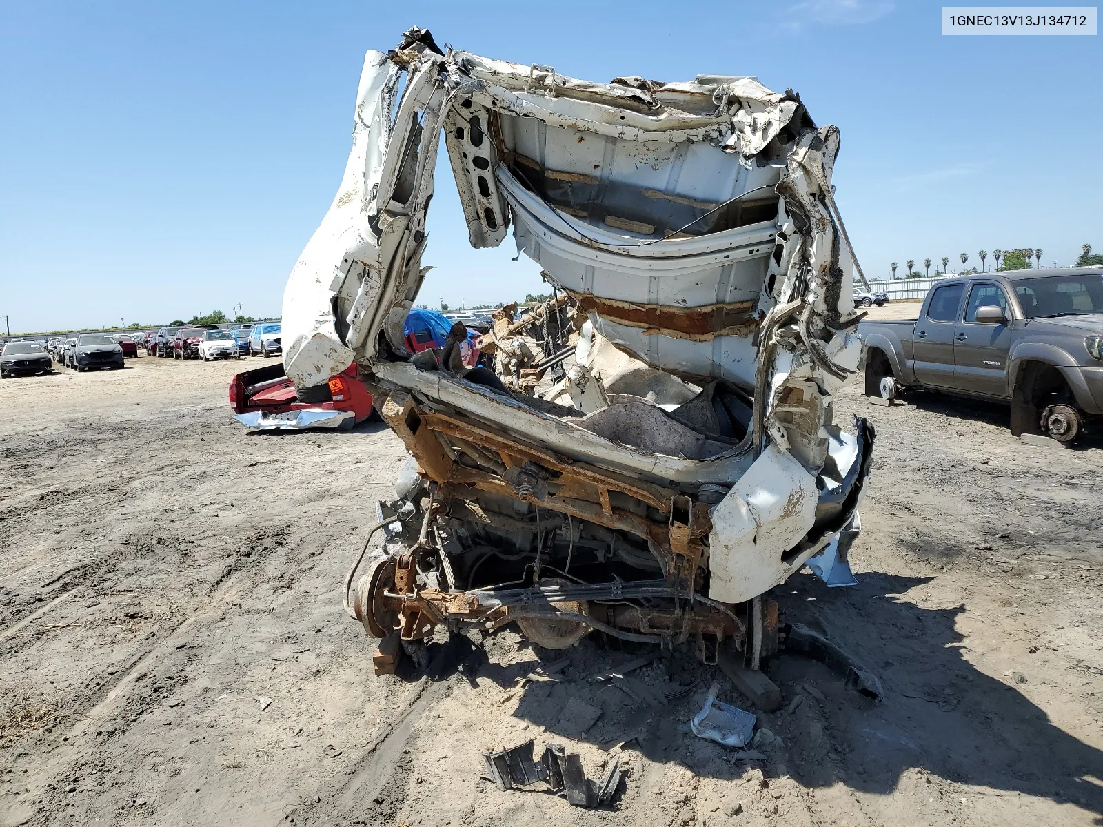
[[[785,622],[801,622],[826,634],[878,675],[885,700],[872,706],[822,664],[797,655],[777,656],[765,672],[783,688],[784,701],[797,692],[804,697],[792,713],[760,719],[760,726],[783,735],[793,762],[779,767],[771,754],[764,766],[768,777],[786,772],[810,788],[842,783],[857,792],[888,794],[906,773],[918,770],[1011,796],[1021,793],[1079,804],[1103,815],[1103,787],[1091,781],[1103,772],[1103,752],[1053,726],[1026,697],[1024,691],[1034,689],[1029,685],[1045,677],[1032,669],[1026,653],[1018,669],[1028,686],[1020,690],[1011,684],[1014,678],[986,675],[963,657],[968,651],[967,634],[959,630],[964,606],[925,609],[899,599],[931,578],[878,572],[860,578],[858,587],[827,589],[805,572],[780,587],[777,597]],[[485,686],[490,680],[503,690],[515,688],[534,664],[495,663],[493,640],[480,646],[454,635],[449,643],[430,644],[429,677],[442,679],[459,672],[472,684]],[[566,704],[579,698],[603,710],[583,735],[586,741],[608,747],[635,737],[639,749],[654,762],[679,764],[700,776],[740,777],[747,764],[733,762],[731,751],[696,738],[686,727],[700,690],[713,680],[720,681],[721,699],[747,704],[724,675],[695,663],[688,653],[675,656],[667,660],[667,673],[688,683],[693,691],[668,707],[635,706],[625,713],[618,690],[579,677],[653,651],[631,644],[624,648],[602,652],[591,635],[567,651],[537,651],[545,660],[570,657],[577,667],[574,679],[528,685],[518,692],[514,716],[546,728],[545,740],[554,740]],[[420,674],[409,665],[399,673],[406,679]],[[800,690],[802,685],[812,686],[822,698]]]

